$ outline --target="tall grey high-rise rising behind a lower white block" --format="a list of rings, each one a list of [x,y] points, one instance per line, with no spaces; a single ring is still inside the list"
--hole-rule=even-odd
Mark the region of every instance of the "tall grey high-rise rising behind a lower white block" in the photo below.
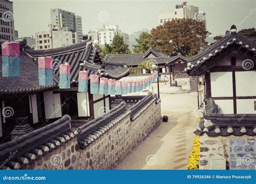
[[[82,17],[63,9],[51,9],[52,26],[63,27],[64,29],[77,34],[77,43],[83,40]]]

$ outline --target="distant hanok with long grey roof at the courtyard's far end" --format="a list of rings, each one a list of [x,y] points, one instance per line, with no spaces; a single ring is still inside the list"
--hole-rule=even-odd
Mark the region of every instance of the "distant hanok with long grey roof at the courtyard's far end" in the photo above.
[[[143,62],[156,63],[159,69],[160,80],[163,81],[164,76],[170,81],[172,85],[183,86],[184,89],[190,89],[191,92],[198,91],[199,77],[190,77],[184,72],[187,65],[185,56],[178,54],[176,56],[169,56],[157,49],[149,48],[146,53],[138,54],[107,54],[106,62],[119,63],[130,67],[129,77],[142,77],[141,74],[150,72],[150,69],[141,69],[138,66]],[[150,66],[148,66],[150,67]],[[169,69],[170,68],[170,69]]]

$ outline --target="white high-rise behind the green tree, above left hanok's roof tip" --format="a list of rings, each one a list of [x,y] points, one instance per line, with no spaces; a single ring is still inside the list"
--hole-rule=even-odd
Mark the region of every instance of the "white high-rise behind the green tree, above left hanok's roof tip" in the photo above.
[[[116,34],[122,35],[124,43],[129,45],[129,34],[119,30],[118,25],[110,25],[110,26],[103,25],[102,29],[88,32],[88,36],[92,37],[93,43],[99,44],[99,45],[112,44],[113,38]]]

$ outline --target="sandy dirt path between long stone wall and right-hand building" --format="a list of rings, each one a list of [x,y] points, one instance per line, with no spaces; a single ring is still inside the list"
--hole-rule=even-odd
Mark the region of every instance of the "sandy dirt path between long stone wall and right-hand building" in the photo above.
[[[161,114],[169,122],[161,123],[116,169],[186,169],[197,126],[197,93],[160,97]]]

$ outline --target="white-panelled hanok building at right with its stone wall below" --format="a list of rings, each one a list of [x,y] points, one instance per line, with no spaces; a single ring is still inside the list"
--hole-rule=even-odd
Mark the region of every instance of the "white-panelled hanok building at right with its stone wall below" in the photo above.
[[[255,48],[255,41],[233,25],[187,61],[187,74],[203,75],[205,84],[204,115],[195,131],[200,136],[199,169],[255,169]]]

